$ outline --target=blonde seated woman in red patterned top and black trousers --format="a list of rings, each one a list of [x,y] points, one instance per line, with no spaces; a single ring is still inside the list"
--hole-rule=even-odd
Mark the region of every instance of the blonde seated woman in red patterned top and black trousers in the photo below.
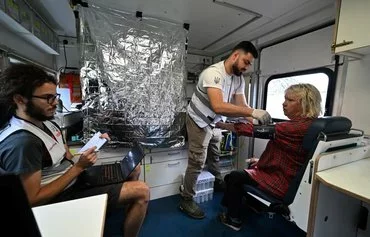
[[[250,167],[233,171],[226,180],[227,188],[222,204],[227,213],[221,213],[221,222],[240,230],[240,209],[243,185],[255,185],[277,198],[282,198],[288,185],[303,164],[303,136],[312,121],[321,113],[321,96],[311,84],[296,84],[285,90],[284,114],[290,119],[276,123],[275,138],[267,143],[261,158],[251,158]],[[252,123],[217,123],[216,126],[234,131],[237,135],[253,136]]]

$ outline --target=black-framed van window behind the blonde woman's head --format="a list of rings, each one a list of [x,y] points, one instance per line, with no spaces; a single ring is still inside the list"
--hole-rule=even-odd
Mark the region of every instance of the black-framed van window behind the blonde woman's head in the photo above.
[[[264,108],[274,121],[287,120],[283,102],[285,89],[297,83],[310,83],[321,93],[323,115],[331,115],[332,95],[334,94],[333,71],[327,68],[273,75],[267,79],[264,93]]]

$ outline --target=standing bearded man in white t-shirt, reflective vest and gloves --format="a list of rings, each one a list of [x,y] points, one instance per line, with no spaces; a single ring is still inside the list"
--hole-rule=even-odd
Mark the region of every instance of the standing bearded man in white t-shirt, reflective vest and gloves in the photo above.
[[[245,81],[242,73],[258,57],[257,49],[249,41],[242,41],[231,55],[206,68],[199,77],[196,90],[187,108],[186,129],[189,151],[188,167],[181,193],[180,210],[197,219],[205,217],[203,210],[193,201],[195,184],[207,161],[208,170],[215,176],[215,191],[224,188],[218,166],[221,129],[215,124],[225,117],[255,118],[266,124],[268,112],[251,108],[245,98]]]

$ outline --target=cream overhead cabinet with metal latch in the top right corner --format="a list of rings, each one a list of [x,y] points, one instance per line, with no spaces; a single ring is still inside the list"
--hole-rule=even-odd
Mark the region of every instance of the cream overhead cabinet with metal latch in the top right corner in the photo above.
[[[370,1],[337,0],[337,7],[334,52],[355,57],[370,54]]]

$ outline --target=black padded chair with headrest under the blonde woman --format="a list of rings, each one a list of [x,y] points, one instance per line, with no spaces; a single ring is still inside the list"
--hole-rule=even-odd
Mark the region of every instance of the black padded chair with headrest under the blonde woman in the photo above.
[[[255,202],[255,200],[260,203],[260,210],[262,212],[269,212],[270,214],[278,213],[283,215],[286,219],[290,220],[290,209],[289,205],[293,203],[297,190],[300,186],[301,180],[307,165],[311,159],[313,159],[315,150],[320,141],[331,141],[338,139],[345,139],[348,137],[358,137],[363,134],[351,134],[352,122],[345,117],[333,116],[333,117],[322,117],[316,119],[309,127],[306,135],[303,138],[303,149],[306,150],[307,156],[304,160],[302,167],[298,170],[296,176],[291,181],[288,187],[288,191],[283,199],[276,198],[271,194],[265,193],[258,187],[251,185],[244,185],[244,191],[246,193],[246,198]],[[346,144],[338,149],[344,147],[356,146],[356,143]],[[319,153],[321,153],[320,151]],[[312,178],[312,173],[310,172],[310,179]]]

